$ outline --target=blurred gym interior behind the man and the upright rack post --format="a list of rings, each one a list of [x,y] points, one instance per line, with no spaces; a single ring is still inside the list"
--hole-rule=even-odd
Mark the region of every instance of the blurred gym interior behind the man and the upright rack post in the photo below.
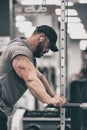
[[[87,0],[67,0],[65,8],[65,36],[67,47],[65,54],[67,57],[67,86],[65,88],[65,95],[71,102],[87,102]],[[54,54],[50,51],[48,54],[40,58],[40,60],[37,59],[37,66],[47,77],[51,87],[59,95],[61,78],[61,0],[0,1],[0,54],[10,39],[15,38],[21,33],[26,36],[31,35],[36,26],[43,24],[50,25],[56,30],[58,34],[57,46],[59,52]],[[27,91],[17,102],[14,108],[14,113],[19,108],[26,110],[25,117],[27,117],[27,119],[24,121],[24,130],[47,130],[48,128],[50,128],[50,130],[60,129],[60,124],[57,124],[59,123],[57,117],[60,119],[59,110],[57,111],[53,109],[52,113],[47,112],[49,120],[45,117],[45,114],[47,113],[43,114],[45,117],[45,119],[43,119],[41,117],[41,112],[43,111],[44,113],[44,106],[41,102],[37,101],[29,91]],[[38,112],[40,112],[40,115]],[[55,112],[57,112],[57,116]],[[31,117],[30,120],[29,116]],[[35,116],[40,116],[40,120],[34,120]],[[54,122],[52,121],[53,128],[49,116],[52,116],[52,119],[55,117]],[[66,130],[87,130],[86,110],[68,110],[66,116],[68,116],[67,121],[69,119],[69,123],[66,123]],[[42,121],[42,123],[40,121]],[[12,120],[9,122],[9,129],[11,129]],[[33,127],[32,122],[36,124]],[[46,128],[44,127],[43,122],[47,125]],[[30,126],[28,126],[29,124]]]

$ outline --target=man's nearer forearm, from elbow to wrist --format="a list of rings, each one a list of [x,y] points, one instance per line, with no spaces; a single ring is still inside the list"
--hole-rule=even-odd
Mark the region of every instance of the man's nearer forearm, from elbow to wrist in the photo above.
[[[43,84],[38,78],[34,78],[32,81],[27,81],[26,85],[33,96],[39,99],[42,103],[50,103],[52,98],[46,92]]]

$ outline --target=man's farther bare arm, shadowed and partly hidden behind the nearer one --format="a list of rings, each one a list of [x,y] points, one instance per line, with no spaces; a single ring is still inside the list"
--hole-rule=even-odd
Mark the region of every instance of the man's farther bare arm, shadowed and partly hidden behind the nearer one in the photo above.
[[[54,97],[55,96],[55,92],[53,91],[53,89],[50,87],[49,82],[47,81],[47,79],[45,78],[45,76],[43,74],[40,73],[39,70],[37,70],[37,75],[38,78],[41,80],[41,82],[43,83],[47,93],[51,96]]]

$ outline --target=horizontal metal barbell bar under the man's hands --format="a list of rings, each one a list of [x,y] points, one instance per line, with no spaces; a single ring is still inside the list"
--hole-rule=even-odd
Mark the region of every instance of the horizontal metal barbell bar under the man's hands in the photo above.
[[[81,109],[87,109],[87,103],[66,103],[63,106],[54,106],[53,104],[46,105],[46,108],[81,108]]]

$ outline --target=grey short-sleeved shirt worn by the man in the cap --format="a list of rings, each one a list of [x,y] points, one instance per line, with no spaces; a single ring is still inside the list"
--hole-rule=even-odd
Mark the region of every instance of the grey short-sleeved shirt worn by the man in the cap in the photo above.
[[[17,55],[27,56],[35,65],[31,47],[24,36],[10,42],[0,57],[0,110],[9,115],[13,105],[27,90],[27,86],[12,67],[12,60]]]

